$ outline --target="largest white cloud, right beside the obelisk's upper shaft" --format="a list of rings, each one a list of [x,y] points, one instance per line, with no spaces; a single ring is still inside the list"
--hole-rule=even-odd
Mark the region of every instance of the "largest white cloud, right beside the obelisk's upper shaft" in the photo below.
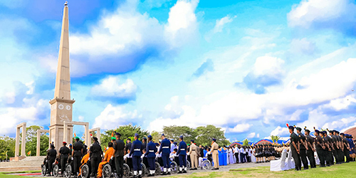
[[[114,13],[103,15],[91,25],[88,33],[70,34],[73,75],[125,73],[146,60],[169,56],[194,39],[198,2],[177,1],[169,11],[167,23],[137,11],[137,1],[121,4]]]

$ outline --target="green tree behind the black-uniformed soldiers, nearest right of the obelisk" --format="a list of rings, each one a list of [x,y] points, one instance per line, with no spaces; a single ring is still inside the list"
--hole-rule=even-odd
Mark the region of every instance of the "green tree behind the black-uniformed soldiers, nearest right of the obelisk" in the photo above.
[[[106,130],[101,135],[101,147],[105,148],[108,146],[108,142],[111,141],[111,135],[114,131],[119,132],[121,134],[121,139],[124,140],[124,142],[126,142],[127,138],[130,138],[133,141],[135,133],[137,133],[140,138],[147,137],[147,135],[150,134],[150,132],[148,132],[147,130],[142,130],[141,127],[137,125],[122,125],[115,130]]]

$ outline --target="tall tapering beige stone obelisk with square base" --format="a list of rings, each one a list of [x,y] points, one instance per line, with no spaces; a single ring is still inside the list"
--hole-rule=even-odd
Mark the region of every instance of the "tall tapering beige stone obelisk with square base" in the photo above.
[[[75,100],[70,100],[70,68],[69,68],[69,36],[68,36],[68,4],[64,4],[61,43],[58,53],[58,68],[56,77],[56,88],[54,98],[51,104],[51,125],[50,142],[53,142],[56,149],[61,147],[63,142],[63,133],[67,132],[68,138],[72,140],[73,126],[68,126],[63,130],[63,121],[72,121],[72,106]]]

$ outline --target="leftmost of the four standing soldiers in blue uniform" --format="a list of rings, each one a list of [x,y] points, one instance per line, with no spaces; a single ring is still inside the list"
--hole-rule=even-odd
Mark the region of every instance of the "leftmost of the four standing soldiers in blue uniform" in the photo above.
[[[135,133],[135,141],[132,142],[131,150],[129,156],[132,156],[132,168],[133,168],[133,177],[137,177],[137,170],[138,170],[138,177],[142,177],[142,167],[141,167],[141,148],[142,142],[138,140],[139,135]]]

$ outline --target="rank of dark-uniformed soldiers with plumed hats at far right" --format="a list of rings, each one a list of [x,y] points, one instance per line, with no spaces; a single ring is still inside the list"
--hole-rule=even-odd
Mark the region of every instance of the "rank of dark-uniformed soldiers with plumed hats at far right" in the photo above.
[[[320,159],[320,167],[330,167],[333,164],[342,164],[355,161],[355,144],[352,135],[340,133],[337,130],[316,130],[310,135],[310,130],[287,124],[290,132],[290,150],[295,162],[295,170],[315,168],[315,152]],[[297,133],[294,132],[296,130]]]

